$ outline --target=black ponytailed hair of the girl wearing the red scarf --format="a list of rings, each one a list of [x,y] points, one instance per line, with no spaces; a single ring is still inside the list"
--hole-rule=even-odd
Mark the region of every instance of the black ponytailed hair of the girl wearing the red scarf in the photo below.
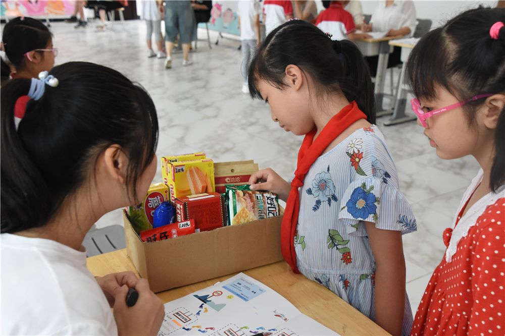
[[[268,34],[250,63],[251,97],[262,99],[256,87],[260,79],[278,89],[286,87],[285,69],[290,64],[308,73],[318,84],[318,91],[341,91],[347,100],[356,100],[367,120],[375,124],[370,71],[356,44],[348,40],[332,41],[321,29],[302,20],[282,24]]]

